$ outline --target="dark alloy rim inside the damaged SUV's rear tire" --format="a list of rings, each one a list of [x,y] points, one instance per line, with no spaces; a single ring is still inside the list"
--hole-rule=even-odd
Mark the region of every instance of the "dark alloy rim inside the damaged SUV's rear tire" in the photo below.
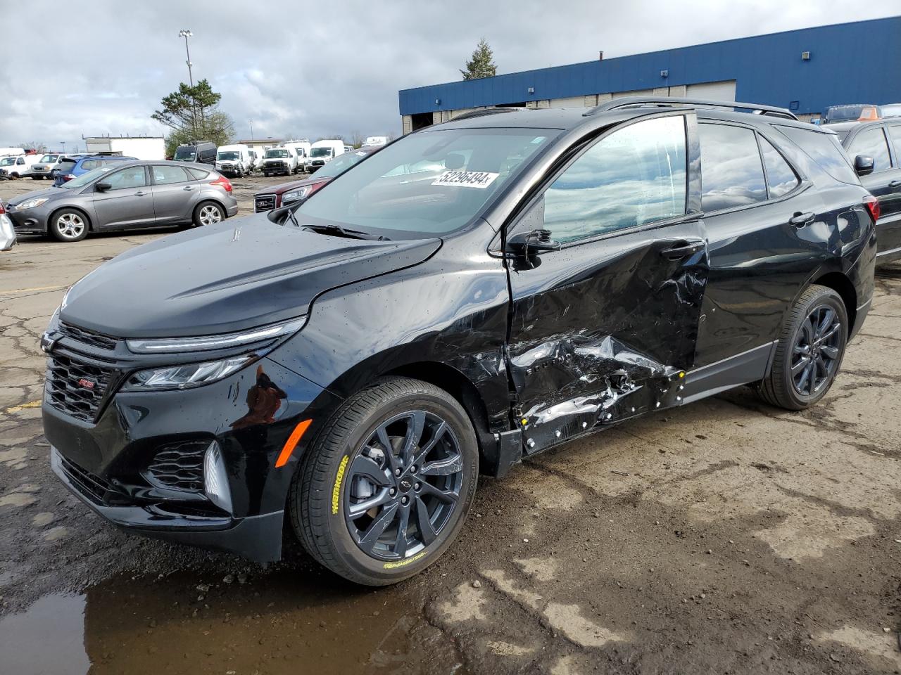
[[[792,347],[795,391],[813,396],[829,383],[841,356],[842,322],[832,307],[819,305],[807,315]]]

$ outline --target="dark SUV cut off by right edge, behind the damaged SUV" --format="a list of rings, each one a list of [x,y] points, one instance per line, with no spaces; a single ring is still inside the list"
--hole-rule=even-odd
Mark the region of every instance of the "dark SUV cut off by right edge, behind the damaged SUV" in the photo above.
[[[901,117],[831,124],[860,183],[879,200],[878,262],[901,258]]]

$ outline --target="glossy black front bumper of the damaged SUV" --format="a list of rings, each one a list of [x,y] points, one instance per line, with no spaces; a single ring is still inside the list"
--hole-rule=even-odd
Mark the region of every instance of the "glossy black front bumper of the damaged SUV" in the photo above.
[[[195,389],[119,392],[135,364],[118,360],[118,352],[103,362],[99,347],[74,347],[84,344],[63,337],[50,347],[42,406],[51,465],[69,490],[137,534],[278,560],[291,481],[314,427],[337,402],[332,394],[265,357]],[[89,395],[85,379],[94,381]],[[87,400],[89,410],[78,407]],[[314,424],[277,468],[302,419]],[[203,462],[190,451],[213,440],[222,451],[230,511],[206,498]]]

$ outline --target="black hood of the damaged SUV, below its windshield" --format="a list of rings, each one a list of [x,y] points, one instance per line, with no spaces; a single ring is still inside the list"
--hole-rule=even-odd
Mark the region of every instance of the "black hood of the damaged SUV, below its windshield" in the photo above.
[[[369,241],[265,217],[160,238],[98,267],[68,293],[60,318],[119,338],[250,329],[305,314],[314,297],[417,265],[441,239]]]

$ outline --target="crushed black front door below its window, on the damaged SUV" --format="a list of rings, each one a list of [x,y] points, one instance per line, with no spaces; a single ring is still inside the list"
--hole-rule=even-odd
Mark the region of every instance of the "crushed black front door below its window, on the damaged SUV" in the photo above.
[[[508,367],[526,453],[678,404],[695,360],[705,240],[703,222],[683,220],[509,267]],[[696,251],[669,255],[687,242]]]

